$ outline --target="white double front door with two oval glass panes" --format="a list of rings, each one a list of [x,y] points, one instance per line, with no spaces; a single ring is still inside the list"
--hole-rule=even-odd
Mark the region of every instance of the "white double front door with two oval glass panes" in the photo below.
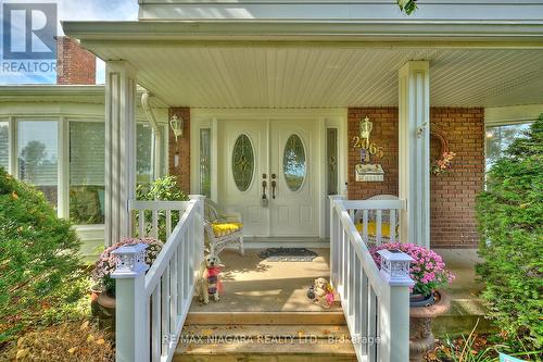
[[[217,199],[240,212],[245,236],[318,236],[316,120],[217,124]]]

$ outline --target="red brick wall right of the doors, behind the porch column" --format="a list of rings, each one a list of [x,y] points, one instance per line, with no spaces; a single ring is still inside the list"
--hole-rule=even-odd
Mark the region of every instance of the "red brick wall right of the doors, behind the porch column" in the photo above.
[[[374,123],[371,141],[383,147],[384,182],[356,183],[354,166],[359,151],[352,148],[364,116]],[[475,198],[483,188],[484,178],[484,110],[481,108],[432,108],[431,127],[440,128],[456,153],[449,173],[430,176],[430,232],[433,248],[476,247]],[[431,158],[438,158],[440,142],[430,139]],[[397,108],[349,109],[349,198],[367,199],[375,195],[397,195]]]

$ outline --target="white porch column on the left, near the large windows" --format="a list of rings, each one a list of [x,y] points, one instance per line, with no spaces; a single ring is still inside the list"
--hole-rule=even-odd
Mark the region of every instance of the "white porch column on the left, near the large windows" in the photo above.
[[[136,190],[136,72],[124,61],[105,70],[105,245],[130,236]]]

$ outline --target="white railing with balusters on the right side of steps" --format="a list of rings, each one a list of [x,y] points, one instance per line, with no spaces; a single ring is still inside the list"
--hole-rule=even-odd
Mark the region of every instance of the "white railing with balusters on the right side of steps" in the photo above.
[[[403,205],[401,200],[345,201],[330,197],[330,278],[340,296],[358,361],[409,359],[412,283],[391,282],[378,269],[353,223],[354,215],[362,210],[363,234],[367,237],[368,212],[377,212],[377,233],[382,235],[382,210],[393,210],[393,219]]]

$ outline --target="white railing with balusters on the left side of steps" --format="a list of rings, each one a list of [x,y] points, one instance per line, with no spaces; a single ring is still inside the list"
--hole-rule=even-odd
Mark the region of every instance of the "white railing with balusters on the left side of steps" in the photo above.
[[[191,197],[190,201],[132,201],[130,209],[138,214],[138,236],[156,237],[165,227],[167,241],[147,274],[138,269],[136,259],[134,273],[114,273],[116,361],[166,362],[174,357],[203,260],[203,197]],[[179,221],[172,229],[176,213]],[[122,249],[117,249],[121,254]]]

